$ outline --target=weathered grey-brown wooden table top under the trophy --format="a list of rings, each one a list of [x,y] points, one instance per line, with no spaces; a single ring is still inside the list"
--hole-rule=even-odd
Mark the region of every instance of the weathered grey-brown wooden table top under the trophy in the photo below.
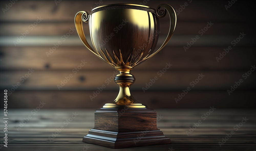
[[[1,150],[256,150],[255,109],[217,108],[212,113],[209,109],[155,109],[158,128],[172,144],[122,149],[82,142],[94,126],[96,109],[8,109],[8,147],[2,147],[5,117],[1,116]],[[198,127],[188,136],[186,131],[193,129],[194,123]],[[239,123],[240,128],[236,127]],[[234,134],[220,146],[231,131]]]

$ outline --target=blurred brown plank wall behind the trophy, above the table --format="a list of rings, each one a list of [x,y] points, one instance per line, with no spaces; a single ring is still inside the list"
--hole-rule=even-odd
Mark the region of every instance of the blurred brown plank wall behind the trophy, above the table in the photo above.
[[[117,72],[83,45],[74,16],[114,3],[168,3],[176,10],[172,39],[131,72],[131,93],[139,102],[150,108],[256,107],[256,72],[249,71],[255,67],[255,9],[252,1],[234,0],[1,1],[0,97],[8,90],[8,107],[44,102],[44,108],[97,109],[112,102],[119,92]],[[158,47],[167,36],[168,15],[159,21]],[[88,23],[83,26],[90,41]]]

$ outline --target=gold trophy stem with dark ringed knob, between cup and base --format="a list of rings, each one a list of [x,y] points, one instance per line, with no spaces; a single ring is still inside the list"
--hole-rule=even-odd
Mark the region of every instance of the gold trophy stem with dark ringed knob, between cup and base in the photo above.
[[[135,77],[130,73],[133,67],[118,66],[120,71],[115,76],[115,83],[120,86],[119,94],[112,103],[106,103],[103,108],[146,108],[147,106],[136,101],[130,92],[130,86],[135,82]]]

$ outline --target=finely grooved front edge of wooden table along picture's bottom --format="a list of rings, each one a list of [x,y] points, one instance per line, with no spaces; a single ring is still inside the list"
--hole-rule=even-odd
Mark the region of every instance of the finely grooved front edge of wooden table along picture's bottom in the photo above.
[[[151,145],[151,146],[139,146],[139,147],[133,147],[133,148],[121,148],[121,149],[112,149],[112,148],[106,148],[99,145],[94,144],[10,144],[10,147],[4,148],[3,150],[17,150],[17,151],[27,151],[27,150],[74,150],[74,151],[81,151],[81,150],[92,150],[92,151],[109,151],[109,150],[115,150],[115,151],[122,151],[122,150],[131,150],[131,151],[168,151],[171,149],[175,150],[190,150],[190,151],[242,151],[242,150],[248,150],[248,151],[254,151],[255,150],[255,144],[225,144],[223,146],[219,146],[217,144],[171,144],[171,145]]]

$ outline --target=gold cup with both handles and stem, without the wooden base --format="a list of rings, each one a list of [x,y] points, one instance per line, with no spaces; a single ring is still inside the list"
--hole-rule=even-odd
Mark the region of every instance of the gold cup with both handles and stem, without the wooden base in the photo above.
[[[164,10],[160,8],[163,7]],[[159,20],[169,13],[170,28],[162,46],[155,50]],[[90,36],[95,50],[88,44],[82,21],[89,22]],[[79,11],[75,17],[78,35],[83,44],[96,56],[120,71],[115,82],[120,86],[117,98],[103,108],[146,108],[130,93],[135,78],[130,71],[158,53],[170,40],[176,26],[176,14],[169,4],[154,8],[136,4],[111,4],[96,7],[90,14]]]

